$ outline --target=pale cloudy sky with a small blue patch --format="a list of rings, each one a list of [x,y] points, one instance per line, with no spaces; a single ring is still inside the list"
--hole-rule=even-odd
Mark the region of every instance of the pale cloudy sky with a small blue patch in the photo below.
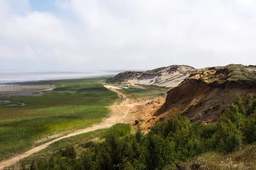
[[[0,0],[0,71],[256,65],[256,0]]]

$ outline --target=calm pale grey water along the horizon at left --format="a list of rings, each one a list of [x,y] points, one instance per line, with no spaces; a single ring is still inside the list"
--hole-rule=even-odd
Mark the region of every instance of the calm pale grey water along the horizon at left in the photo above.
[[[120,72],[122,71],[0,71],[0,85],[11,82],[112,76]]]

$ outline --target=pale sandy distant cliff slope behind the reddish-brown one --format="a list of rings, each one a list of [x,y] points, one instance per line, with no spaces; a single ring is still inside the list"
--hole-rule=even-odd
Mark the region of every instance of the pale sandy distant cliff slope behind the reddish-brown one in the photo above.
[[[176,87],[195,71],[198,70],[188,65],[170,65],[149,71],[125,71],[106,82]]]

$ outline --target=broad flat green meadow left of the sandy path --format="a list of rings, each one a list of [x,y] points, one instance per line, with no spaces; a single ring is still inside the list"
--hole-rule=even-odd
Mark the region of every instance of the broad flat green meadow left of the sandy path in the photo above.
[[[0,160],[31,148],[47,136],[67,133],[102,122],[109,105],[118,101],[115,92],[99,81],[106,78],[38,82],[55,85],[44,96],[1,98],[25,105],[0,108]]]

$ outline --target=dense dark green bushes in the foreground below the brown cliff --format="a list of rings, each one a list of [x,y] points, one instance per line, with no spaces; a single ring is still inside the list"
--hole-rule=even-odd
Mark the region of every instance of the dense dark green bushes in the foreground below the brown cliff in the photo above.
[[[176,163],[195,156],[207,152],[232,153],[256,142],[255,115],[256,100],[249,94],[244,103],[238,97],[215,125],[191,124],[186,117],[176,116],[156,124],[146,135],[140,128],[136,134],[122,138],[115,133],[109,134],[104,142],[86,143],[87,149],[81,154],[67,148],[66,154],[54,153],[49,159],[32,163],[28,169],[175,169]],[[250,156],[253,154],[255,151]],[[241,158],[238,155],[236,159]]]

